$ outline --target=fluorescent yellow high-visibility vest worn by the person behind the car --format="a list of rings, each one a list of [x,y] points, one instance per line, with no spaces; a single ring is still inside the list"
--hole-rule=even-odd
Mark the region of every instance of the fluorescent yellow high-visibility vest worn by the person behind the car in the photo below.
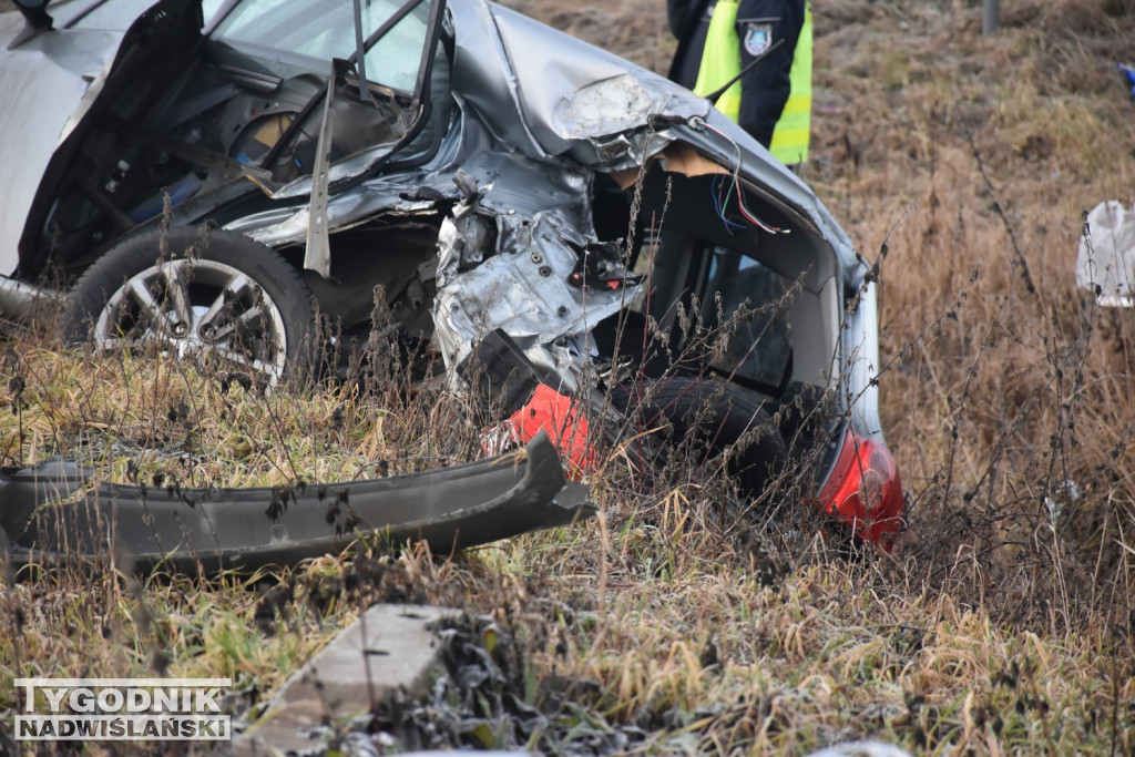
[[[737,33],[738,0],[717,0],[705,52],[698,68],[693,92],[703,96],[720,90],[729,79],[741,73],[741,41]],[[782,163],[799,163],[808,159],[812,136],[812,8],[805,9],[800,39],[792,54],[789,73],[791,93],[776,127],[768,151]],[[741,115],[741,82],[734,82],[717,100],[717,110],[734,124]]]

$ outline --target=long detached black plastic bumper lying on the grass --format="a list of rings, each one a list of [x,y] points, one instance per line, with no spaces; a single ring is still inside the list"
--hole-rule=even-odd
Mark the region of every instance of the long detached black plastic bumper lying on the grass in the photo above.
[[[589,518],[587,487],[565,482],[540,434],[523,452],[387,479],[254,489],[85,483],[52,462],[0,474],[0,527],[15,563],[107,560],[138,569],[294,564],[360,532],[423,539],[435,554]],[[0,535],[0,536],[3,536]]]

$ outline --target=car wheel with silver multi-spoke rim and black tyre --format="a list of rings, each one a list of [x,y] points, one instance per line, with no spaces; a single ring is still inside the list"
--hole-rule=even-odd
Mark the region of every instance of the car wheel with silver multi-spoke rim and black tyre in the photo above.
[[[60,319],[67,343],[158,345],[276,384],[316,363],[311,291],[276,251],[219,229],[124,239],[91,266]]]

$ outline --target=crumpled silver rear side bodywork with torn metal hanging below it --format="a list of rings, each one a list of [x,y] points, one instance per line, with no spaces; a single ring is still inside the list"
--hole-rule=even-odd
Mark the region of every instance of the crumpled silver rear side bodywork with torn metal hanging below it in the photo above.
[[[598,243],[590,205],[597,171],[622,186],[653,160],[687,176],[737,171],[751,192],[830,241],[847,283],[861,283],[866,267],[815,194],[705,99],[491,3],[449,8],[460,32],[452,60],[459,117],[438,152],[414,170],[334,193],[326,213],[333,233],[388,213],[447,217],[432,317],[454,388],[461,379],[453,367],[496,329],[554,372],[560,389],[586,386],[588,333],[636,293],[633,285],[569,285],[581,255]],[[476,209],[462,205],[462,176],[478,188]],[[313,222],[303,207],[229,228],[280,247],[302,243]],[[314,259],[305,268],[326,275],[326,255],[312,255],[313,246],[326,252],[309,243]]]

